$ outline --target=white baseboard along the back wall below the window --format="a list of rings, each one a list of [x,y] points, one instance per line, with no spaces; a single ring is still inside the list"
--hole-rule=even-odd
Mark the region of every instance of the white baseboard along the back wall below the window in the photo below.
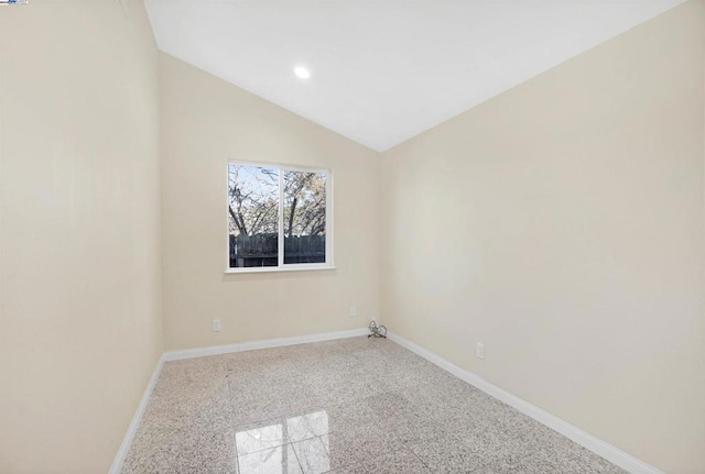
[[[237,344],[170,351],[164,352],[163,359],[164,361],[180,361],[182,359],[203,357],[204,355],[229,354],[232,352],[252,351],[256,349],[283,348],[285,345],[355,338],[356,335],[365,334],[369,334],[369,330],[367,328],[351,329],[349,331],[325,332],[322,334],[296,335],[294,338],[267,339],[264,341],[240,342]]]

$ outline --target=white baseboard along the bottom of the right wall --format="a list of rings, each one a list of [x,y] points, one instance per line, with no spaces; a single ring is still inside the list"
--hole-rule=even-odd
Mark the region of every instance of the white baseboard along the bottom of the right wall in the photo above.
[[[557,431],[564,437],[575,441],[576,443],[585,447],[586,449],[593,451],[595,454],[598,454],[605,458],[607,461],[617,464],[619,467],[632,473],[632,474],[663,474],[662,471],[653,467],[650,464],[647,464],[643,461],[638,460],[629,453],[621,451],[618,448],[607,443],[606,441],[600,440],[599,438],[594,437],[593,434],[583,431],[582,429],[568,423],[561,418],[551,415],[550,412],[536,407],[535,405],[530,404],[527,400],[523,400],[502,388],[499,388],[496,385],[490,384],[486,379],[479,377],[478,375],[466,371],[464,368],[458,367],[457,365],[446,361],[437,354],[434,354],[431,351],[423,349],[422,346],[414,344],[411,341],[405,340],[401,335],[394,334],[391,331],[387,334],[387,337],[398,343],[401,346],[409,349],[412,352],[421,355],[425,360],[436,364],[438,367],[444,368],[455,375],[456,377],[467,382],[470,385],[479,388],[486,394],[506,403],[507,405],[518,409],[522,414],[533,418],[534,420],[545,425],[546,427]]]

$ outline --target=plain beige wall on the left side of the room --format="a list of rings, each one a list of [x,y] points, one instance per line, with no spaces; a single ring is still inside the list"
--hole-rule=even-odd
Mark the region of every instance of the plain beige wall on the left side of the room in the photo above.
[[[0,8],[0,472],[106,473],[162,352],[141,2]]]

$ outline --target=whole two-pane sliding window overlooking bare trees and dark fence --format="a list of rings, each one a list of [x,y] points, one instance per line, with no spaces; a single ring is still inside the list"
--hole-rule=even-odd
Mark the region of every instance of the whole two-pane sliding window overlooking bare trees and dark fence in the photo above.
[[[228,164],[228,269],[330,268],[330,173]]]

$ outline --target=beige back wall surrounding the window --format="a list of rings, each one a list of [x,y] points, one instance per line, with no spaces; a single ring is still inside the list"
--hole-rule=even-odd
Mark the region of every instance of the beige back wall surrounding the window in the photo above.
[[[161,67],[167,349],[367,326],[380,293],[377,153],[172,56]],[[332,169],[336,269],[224,274],[228,159]]]

